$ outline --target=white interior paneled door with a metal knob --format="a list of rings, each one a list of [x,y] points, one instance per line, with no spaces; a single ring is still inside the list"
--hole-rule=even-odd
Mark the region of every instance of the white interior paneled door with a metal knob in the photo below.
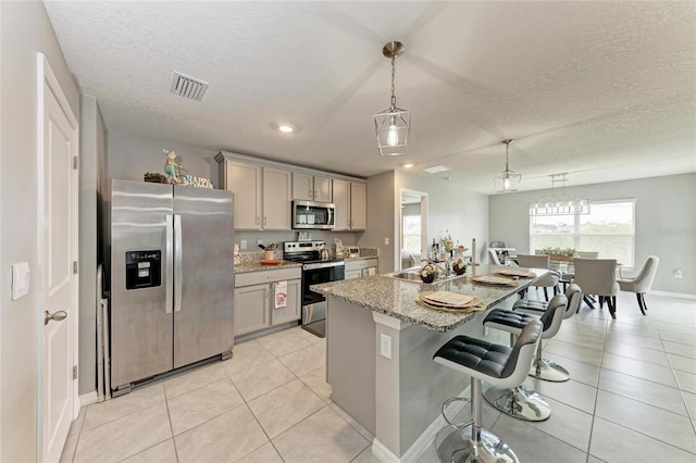
[[[39,54],[39,429],[41,460],[58,462],[77,404],[77,121]],[[42,71],[42,72],[41,72]]]

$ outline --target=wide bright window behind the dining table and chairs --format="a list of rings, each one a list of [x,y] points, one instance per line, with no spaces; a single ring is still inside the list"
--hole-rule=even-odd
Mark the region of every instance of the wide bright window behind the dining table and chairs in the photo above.
[[[635,265],[635,200],[593,201],[586,215],[530,217],[530,250],[574,248]]]

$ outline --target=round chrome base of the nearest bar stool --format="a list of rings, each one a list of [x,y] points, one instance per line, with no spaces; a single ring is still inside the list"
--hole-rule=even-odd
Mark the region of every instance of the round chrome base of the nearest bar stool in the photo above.
[[[437,456],[440,462],[446,463],[519,463],[520,460],[512,449],[505,443],[498,436],[481,429],[481,442],[474,446],[471,442],[472,426],[463,429],[452,429],[449,426],[444,427],[439,433],[444,434],[443,440],[437,446]],[[447,434],[447,431],[449,431]]]

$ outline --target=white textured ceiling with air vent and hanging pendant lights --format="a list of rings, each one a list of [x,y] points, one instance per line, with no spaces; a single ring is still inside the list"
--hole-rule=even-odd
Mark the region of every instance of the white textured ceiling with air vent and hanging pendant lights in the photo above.
[[[484,193],[506,138],[522,189],[562,172],[569,186],[696,172],[695,7],[46,2],[110,130],[359,176],[444,163],[437,176]],[[394,39],[413,128],[406,157],[380,158],[372,116],[389,104]],[[210,84],[201,102],[170,93],[174,71]]]

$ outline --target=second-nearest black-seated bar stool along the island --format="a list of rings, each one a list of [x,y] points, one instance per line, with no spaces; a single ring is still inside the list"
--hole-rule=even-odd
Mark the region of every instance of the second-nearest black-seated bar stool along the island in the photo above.
[[[554,296],[540,318],[526,313],[495,309],[484,318],[483,326],[508,331],[512,339],[520,335],[526,325],[538,321],[543,325],[542,339],[548,339],[558,333],[567,304],[564,295]],[[537,347],[537,355],[539,353]],[[543,422],[551,415],[551,408],[542,396],[523,386],[509,389],[490,385],[484,390],[483,397],[493,406],[514,418]]]

